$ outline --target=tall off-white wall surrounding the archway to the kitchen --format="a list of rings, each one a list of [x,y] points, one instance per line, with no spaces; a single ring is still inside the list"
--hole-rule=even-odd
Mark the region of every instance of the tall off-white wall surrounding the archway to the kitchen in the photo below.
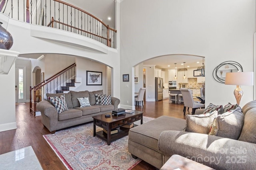
[[[236,87],[216,82],[212,71],[224,61],[253,70],[255,0],[125,0],[120,11],[121,74],[131,74],[132,66],[161,55],[204,56],[206,106],[236,103]],[[242,88],[241,106],[253,100],[253,87]],[[121,104],[133,98],[133,90],[121,84],[124,90],[129,92],[122,95]]]

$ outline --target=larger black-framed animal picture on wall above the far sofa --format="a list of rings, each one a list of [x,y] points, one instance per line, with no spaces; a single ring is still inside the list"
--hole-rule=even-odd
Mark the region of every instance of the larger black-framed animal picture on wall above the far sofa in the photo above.
[[[102,72],[86,71],[87,86],[102,86]]]

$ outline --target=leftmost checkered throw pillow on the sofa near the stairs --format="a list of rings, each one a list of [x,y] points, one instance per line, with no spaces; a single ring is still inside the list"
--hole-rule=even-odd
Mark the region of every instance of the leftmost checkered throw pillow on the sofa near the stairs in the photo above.
[[[65,101],[65,94],[56,97],[49,97],[48,99],[50,100],[51,104],[57,109],[59,114],[63,111],[68,110],[67,103]]]

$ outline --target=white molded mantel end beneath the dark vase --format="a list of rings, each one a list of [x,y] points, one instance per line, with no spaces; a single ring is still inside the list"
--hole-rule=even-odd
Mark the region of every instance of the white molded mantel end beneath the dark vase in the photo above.
[[[20,53],[0,49],[0,74],[8,74]]]

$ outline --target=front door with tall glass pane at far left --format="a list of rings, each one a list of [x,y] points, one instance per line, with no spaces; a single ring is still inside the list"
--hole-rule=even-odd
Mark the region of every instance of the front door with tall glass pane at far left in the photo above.
[[[16,66],[15,67],[15,102],[26,102],[26,68]]]

